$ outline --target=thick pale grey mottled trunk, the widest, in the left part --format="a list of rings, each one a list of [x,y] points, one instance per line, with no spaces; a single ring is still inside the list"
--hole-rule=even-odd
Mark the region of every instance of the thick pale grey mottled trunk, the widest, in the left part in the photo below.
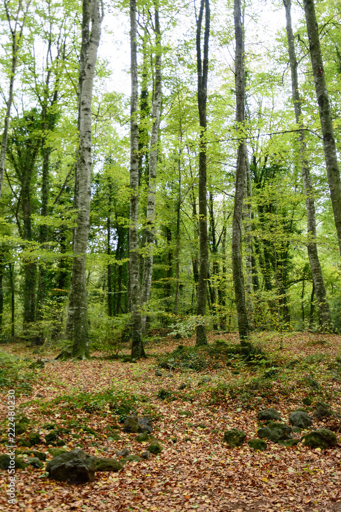
[[[92,169],[92,96],[97,50],[103,14],[99,0],[83,0],[82,44],[79,63],[79,152],[77,159],[77,224],[74,237],[72,284],[68,317],[72,319],[72,355],[89,357],[86,296],[86,249],[90,223],[90,178]],[[91,29],[90,29],[91,23]],[[72,311],[71,311],[72,309]],[[71,313],[71,314],[70,314]]]

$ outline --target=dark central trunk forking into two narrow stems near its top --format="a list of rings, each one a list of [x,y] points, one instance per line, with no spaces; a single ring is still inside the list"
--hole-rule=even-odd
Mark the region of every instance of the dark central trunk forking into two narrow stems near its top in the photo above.
[[[203,38],[203,60],[201,60],[201,25],[203,8],[205,8],[205,30]],[[197,316],[206,316],[207,275],[209,267],[209,248],[207,237],[207,161],[206,161],[206,129],[207,129],[207,78],[209,71],[209,37],[210,37],[210,2],[201,0],[196,29],[197,75],[198,75],[198,111],[200,125],[199,152],[199,242],[200,263],[197,296]],[[207,345],[206,326],[202,323],[196,327],[196,345]]]

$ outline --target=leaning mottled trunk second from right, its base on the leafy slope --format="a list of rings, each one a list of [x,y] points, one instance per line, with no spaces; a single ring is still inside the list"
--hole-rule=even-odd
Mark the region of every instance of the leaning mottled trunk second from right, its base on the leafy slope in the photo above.
[[[299,82],[297,75],[298,63],[295,55],[294,36],[291,26],[291,0],[284,0],[285,14],[286,14],[286,32],[288,39],[288,51],[291,69],[291,86],[292,86],[292,100],[295,111],[295,120],[297,124],[303,129],[302,108],[299,93]],[[315,200],[314,191],[311,184],[309,162],[306,155],[306,142],[304,130],[299,132],[298,135],[301,173],[303,179],[304,193],[306,197],[306,210],[307,210],[307,228],[308,228],[308,258],[310,262],[311,274],[314,283],[316,294],[317,307],[319,308],[319,318],[322,331],[332,330],[332,320],[327,302],[326,288],[321,270],[321,264],[316,244],[316,215],[315,215]]]

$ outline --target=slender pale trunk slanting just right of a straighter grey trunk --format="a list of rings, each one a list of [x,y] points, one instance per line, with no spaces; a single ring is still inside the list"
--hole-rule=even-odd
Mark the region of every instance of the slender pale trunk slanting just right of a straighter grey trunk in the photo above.
[[[160,124],[161,112],[161,32],[158,18],[158,8],[155,4],[155,38],[156,38],[156,55],[155,55],[155,90],[152,107],[153,125],[150,136],[150,153],[149,153],[149,180],[148,180],[148,200],[147,200],[147,233],[146,233],[146,254],[144,259],[143,280],[142,280],[142,305],[145,306],[149,302],[151,277],[153,273],[153,248],[155,233],[155,195],[156,195],[156,164],[157,164],[157,140],[158,125]],[[146,330],[146,315],[142,319],[142,333]]]

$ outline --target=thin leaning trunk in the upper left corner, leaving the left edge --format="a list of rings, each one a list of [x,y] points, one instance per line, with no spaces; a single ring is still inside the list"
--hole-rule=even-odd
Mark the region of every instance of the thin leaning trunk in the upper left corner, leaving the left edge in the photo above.
[[[10,12],[9,2],[4,0],[4,7],[6,11],[6,17],[9,25],[9,30],[11,32],[12,39],[12,65],[11,65],[11,75],[10,75],[10,83],[9,83],[9,91],[8,91],[8,99],[6,101],[6,114],[5,114],[5,122],[4,122],[4,131],[1,140],[1,150],[0,150],[0,197],[3,188],[4,182],[4,174],[5,174],[5,160],[6,160],[6,151],[7,151],[7,140],[8,140],[8,129],[11,118],[11,106],[13,102],[13,88],[14,88],[14,79],[17,67],[18,60],[18,50],[20,48],[21,39],[22,39],[22,31],[24,30],[27,12],[29,10],[31,4],[31,0],[29,0],[26,4],[26,8],[24,11],[24,15],[22,17],[21,24],[19,22],[20,11],[22,9],[22,0],[18,1],[18,8],[15,15],[12,15]],[[14,22],[14,26],[12,27],[12,20]]]

